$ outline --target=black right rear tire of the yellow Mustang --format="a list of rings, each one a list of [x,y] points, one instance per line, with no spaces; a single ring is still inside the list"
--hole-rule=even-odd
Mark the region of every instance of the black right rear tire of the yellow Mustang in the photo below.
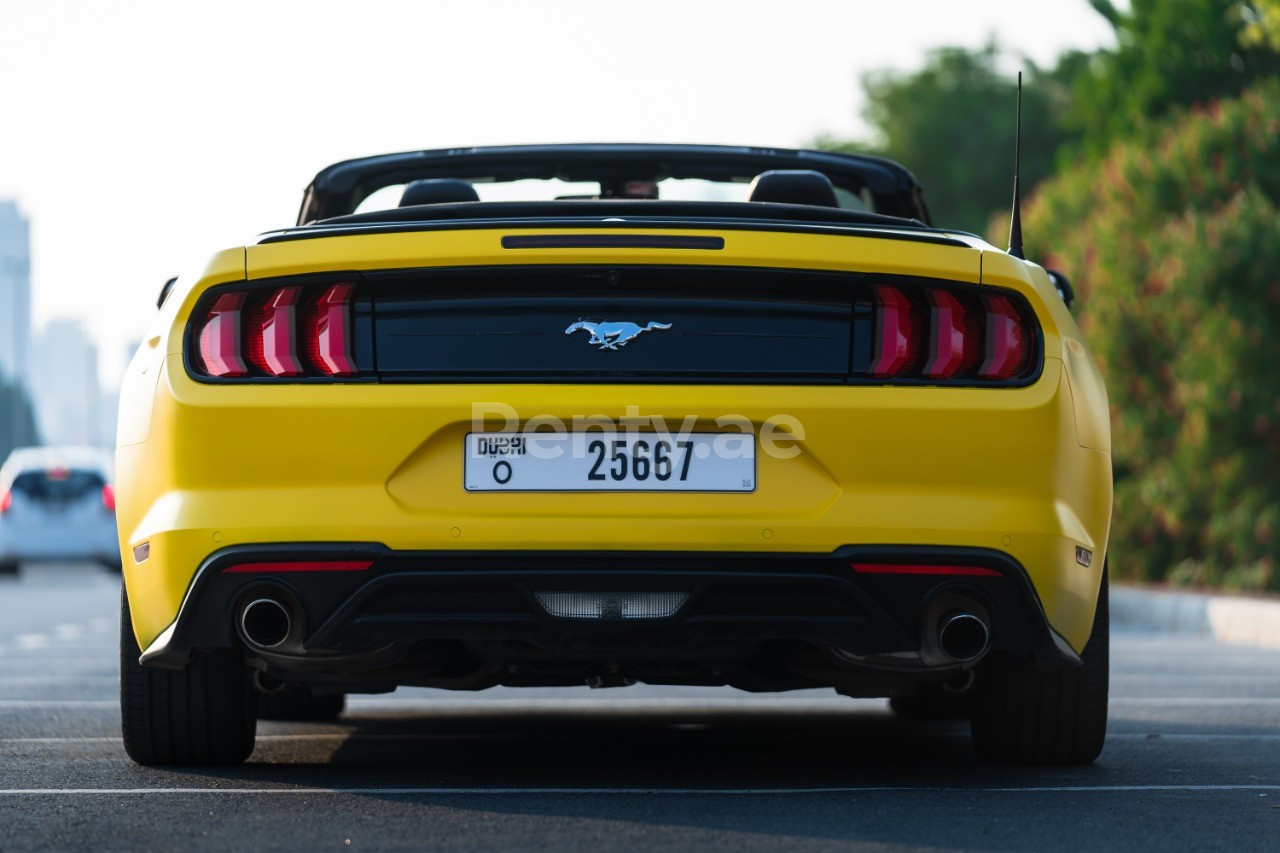
[[[979,758],[1004,765],[1088,765],[1098,757],[1107,736],[1108,599],[1103,569],[1080,667],[980,678],[973,708],[973,748]]]

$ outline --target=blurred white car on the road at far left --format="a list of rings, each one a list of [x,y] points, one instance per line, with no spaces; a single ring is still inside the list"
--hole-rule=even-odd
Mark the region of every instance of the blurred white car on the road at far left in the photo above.
[[[0,574],[23,562],[92,560],[120,569],[111,455],[20,447],[0,467]]]

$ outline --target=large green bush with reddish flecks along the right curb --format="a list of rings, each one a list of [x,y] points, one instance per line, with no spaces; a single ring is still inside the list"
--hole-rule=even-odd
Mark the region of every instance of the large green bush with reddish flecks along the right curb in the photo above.
[[[1280,589],[1277,207],[1280,81],[1134,128],[1029,200],[1107,377],[1112,576]]]

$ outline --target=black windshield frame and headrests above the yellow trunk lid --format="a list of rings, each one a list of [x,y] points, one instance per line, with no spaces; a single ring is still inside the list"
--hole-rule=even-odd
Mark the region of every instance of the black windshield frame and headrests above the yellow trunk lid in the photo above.
[[[410,151],[381,156],[346,160],[321,170],[307,187],[298,214],[298,224],[316,223],[343,218],[343,222],[404,222],[458,218],[492,218],[493,207],[502,202],[479,202],[471,205],[431,205],[439,211],[424,214],[425,206],[406,209],[416,213],[378,211],[372,219],[348,218],[360,202],[372,192],[422,178],[462,178],[472,182],[552,179],[566,182],[599,182],[602,187],[621,186],[630,181],[662,181],[664,178],[701,178],[705,181],[750,182],[762,172],[773,169],[810,169],[822,172],[840,188],[856,195],[869,196],[876,214],[888,218],[916,220],[916,224],[929,222],[928,209],[919,183],[905,168],[881,158],[864,155],[835,154],[831,151],[808,151],[797,149],[758,149],[723,145],[641,145],[641,143],[593,143],[593,145],[530,145],[494,146],[471,149],[436,149],[431,151]],[[518,202],[516,202],[518,204]],[[552,205],[573,202],[543,202]],[[657,206],[673,205],[669,201],[605,201],[596,204],[635,204],[643,205],[652,215],[682,215],[673,209]],[[703,202],[695,202],[703,204]],[[733,207],[744,205],[736,204]],[[754,206],[754,205],[753,205]],[[771,205],[771,216],[812,222],[800,211],[804,205]],[[443,207],[452,207],[445,211]],[[557,207],[543,207],[530,215],[556,215]],[[690,209],[685,209],[685,214]],[[628,213],[636,213],[628,210]],[[828,210],[819,216],[823,222],[851,222],[844,214],[855,211]],[[573,214],[581,215],[581,214]],[[608,214],[605,214],[608,215]],[[728,215],[728,214],[721,214]],[[744,214],[735,214],[744,215]],[[755,214],[745,214],[754,216]],[[870,224],[868,214],[858,214],[852,222]],[[366,214],[361,214],[366,216]],[[908,224],[908,223],[901,223]]]

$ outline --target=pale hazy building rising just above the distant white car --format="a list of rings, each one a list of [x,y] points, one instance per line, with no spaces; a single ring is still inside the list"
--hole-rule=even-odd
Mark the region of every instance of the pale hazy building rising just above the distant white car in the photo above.
[[[52,320],[32,347],[31,392],[45,444],[105,447],[113,443],[114,406],[104,406],[97,347],[76,320]]]

